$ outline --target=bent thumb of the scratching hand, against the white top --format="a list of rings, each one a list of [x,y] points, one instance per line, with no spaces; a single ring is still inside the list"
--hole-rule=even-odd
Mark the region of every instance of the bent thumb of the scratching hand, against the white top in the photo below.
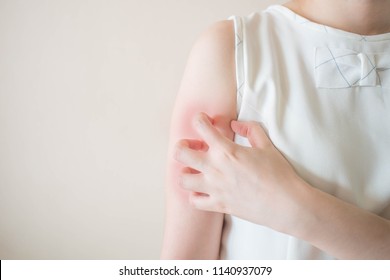
[[[254,148],[263,148],[272,144],[259,123],[232,121],[231,128],[238,135],[248,138]]]

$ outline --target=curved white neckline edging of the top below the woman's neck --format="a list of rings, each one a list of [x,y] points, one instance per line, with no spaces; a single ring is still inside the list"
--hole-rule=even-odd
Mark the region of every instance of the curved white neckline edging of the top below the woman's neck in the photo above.
[[[289,8],[283,6],[283,5],[272,5],[268,9],[274,9],[277,10],[278,12],[284,14],[288,18],[292,19],[296,23],[311,28],[318,30],[323,33],[327,34],[332,34],[336,36],[341,36],[344,38],[349,38],[352,40],[357,40],[357,41],[369,41],[369,42],[374,42],[374,41],[385,41],[385,40],[390,40],[390,32],[389,33],[383,33],[383,34],[376,34],[376,35],[360,35],[357,33],[345,31],[342,29],[337,29],[331,26],[327,26],[324,24],[316,23],[313,22],[295,12],[290,10]]]

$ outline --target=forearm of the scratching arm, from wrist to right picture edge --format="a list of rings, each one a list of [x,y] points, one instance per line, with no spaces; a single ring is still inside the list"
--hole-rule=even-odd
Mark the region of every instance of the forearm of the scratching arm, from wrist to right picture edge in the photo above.
[[[292,235],[339,259],[390,259],[390,221],[301,182]]]

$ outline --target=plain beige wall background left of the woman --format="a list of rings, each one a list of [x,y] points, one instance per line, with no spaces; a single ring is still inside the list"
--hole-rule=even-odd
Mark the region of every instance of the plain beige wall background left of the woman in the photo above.
[[[0,259],[157,259],[191,45],[282,2],[0,0]]]

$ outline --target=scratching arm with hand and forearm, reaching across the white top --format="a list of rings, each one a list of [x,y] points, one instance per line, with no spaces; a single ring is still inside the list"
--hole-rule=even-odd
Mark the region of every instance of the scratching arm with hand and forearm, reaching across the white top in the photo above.
[[[248,138],[248,148],[221,135],[204,114],[195,123],[209,149],[195,151],[191,141],[182,140],[176,159],[201,172],[180,175],[196,208],[293,235],[336,258],[390,259],[390,221],[307,184],[258,124],[231,124]]]

